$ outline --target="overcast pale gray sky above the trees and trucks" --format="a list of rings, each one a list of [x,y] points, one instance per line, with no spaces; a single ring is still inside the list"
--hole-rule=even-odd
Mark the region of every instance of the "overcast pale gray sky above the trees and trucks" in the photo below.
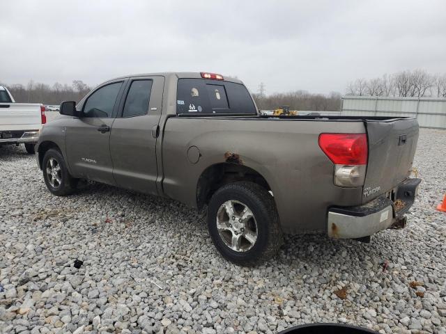
[[[254,93],[446,72],[446,1],[3,1],[0,82],[208,71]]]

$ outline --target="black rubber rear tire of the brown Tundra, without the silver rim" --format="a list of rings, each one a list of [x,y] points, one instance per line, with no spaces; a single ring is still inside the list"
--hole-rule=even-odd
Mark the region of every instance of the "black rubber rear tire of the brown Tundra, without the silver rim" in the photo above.
[[[220,207],[229,201],[243,203],[254,215],[256,241],[252,248],[241,252],[231,249],[217,229],[217,214]],[[230,218],[229,218],[230,219]],[[218,189],[208,204],[208,230],[215,247],[226,260],[241,266],[254,266],[274,256],[283,243],[282,230],[274,199],[259,184],[235,182]],[[229,231],[233,234],[233,232]],[[226,240],[227,242],[227,240]]]

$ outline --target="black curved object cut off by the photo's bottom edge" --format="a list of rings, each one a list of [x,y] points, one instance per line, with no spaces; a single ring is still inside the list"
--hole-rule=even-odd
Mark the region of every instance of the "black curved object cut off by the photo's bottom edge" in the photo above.
[[[306,324],[288,328],[279,334],[377,334],[367,328],[346,324]]]

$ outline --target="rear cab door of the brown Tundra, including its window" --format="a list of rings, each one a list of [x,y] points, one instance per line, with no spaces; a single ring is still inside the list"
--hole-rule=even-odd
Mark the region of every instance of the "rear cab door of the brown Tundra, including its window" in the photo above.
[[[130,78],[112,126],[110,152],[118,186],[157,194],[156,141],[164,77]]]

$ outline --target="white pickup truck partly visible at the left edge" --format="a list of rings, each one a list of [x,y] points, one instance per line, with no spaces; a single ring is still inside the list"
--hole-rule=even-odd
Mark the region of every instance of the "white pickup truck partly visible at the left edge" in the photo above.
[[[23,143],[33,154],[40,128],[47,122],[45,106],[15,103],[6,87],[0,86],[0,146]]]

